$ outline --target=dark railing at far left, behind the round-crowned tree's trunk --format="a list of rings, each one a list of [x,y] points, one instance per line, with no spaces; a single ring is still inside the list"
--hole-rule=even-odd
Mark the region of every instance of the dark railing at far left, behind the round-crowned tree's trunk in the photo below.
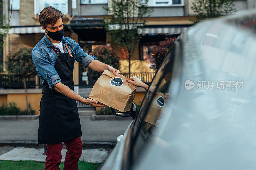
[[[35,88],[35,76],[26,78],[27,88]],[[22,76],[13,74],[0,74],[0,88],[24,88]]]

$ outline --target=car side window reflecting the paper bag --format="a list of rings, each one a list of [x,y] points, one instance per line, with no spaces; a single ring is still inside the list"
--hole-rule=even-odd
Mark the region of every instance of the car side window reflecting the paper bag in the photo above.
[[[132,142],[132,156],[130,157],[132,163],[140,161],[140,156],[150,144],[152,137],[155,136],[154,133],[158,124],[161,123],[161,110],[172,96],[168,93],[168,89],[171,84],[174,57],[180,55],[180,51],[179,43],[175,43],[166,55],[145,94],[134,124],[134,129],[137,129],[137,132]]]

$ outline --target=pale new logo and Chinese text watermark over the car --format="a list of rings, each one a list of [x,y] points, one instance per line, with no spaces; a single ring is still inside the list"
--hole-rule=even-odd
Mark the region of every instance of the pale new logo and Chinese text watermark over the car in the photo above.
[[[186,80],[185,82],[185,88],[186,90],[191,90],[193,89],[195,86],[194,82],[191,80]],[[244,86],[244,81],[240,80],[240,81],[232,81],[232,80],[228,80],[228,81],[197,81],[197,85],[196,85],[196,89],[200,89],[200,90],[208,90],[208,89],[219,89],[219,90],[242,90]]]

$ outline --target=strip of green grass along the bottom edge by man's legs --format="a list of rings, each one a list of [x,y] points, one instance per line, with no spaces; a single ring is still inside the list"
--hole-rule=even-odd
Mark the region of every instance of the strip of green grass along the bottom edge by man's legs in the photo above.
[[[63,169],[64,162],[60,163],[60,169]],[[79,162],[78,169],[80,170],[95,170],[100,164],[97,163],[87,163],[87,162]],[[0,161],[0,169],[1,170],[44,170],[45,162],[37,162],[37,161],[11,161],[4,160]]]

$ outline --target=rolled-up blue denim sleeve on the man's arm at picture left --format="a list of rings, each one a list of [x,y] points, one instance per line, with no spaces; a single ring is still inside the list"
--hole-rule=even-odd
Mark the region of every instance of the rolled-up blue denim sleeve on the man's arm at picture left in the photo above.
[[[49,88],[52,90],[53,86],[61,82],[59,74],[54,68],[54,65],[49,61],[47,55],[40,50],[32,51],[32,60],[36,66],[37,72],[47,81]]]

